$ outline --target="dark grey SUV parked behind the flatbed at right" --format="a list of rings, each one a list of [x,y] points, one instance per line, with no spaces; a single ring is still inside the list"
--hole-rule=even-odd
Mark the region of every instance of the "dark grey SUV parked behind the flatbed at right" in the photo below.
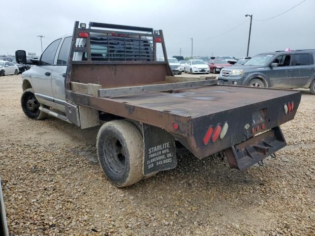
[[[310,89],[315,94],[315,50],[258,54],[244,65],[221,70],[218,83],[281,89]]]

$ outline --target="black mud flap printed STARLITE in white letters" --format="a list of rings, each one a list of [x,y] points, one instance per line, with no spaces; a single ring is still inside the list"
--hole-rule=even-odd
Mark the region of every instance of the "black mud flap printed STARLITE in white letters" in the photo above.
[[[175,139],[164,129],[142,124],[144,142],[143,174],[170,170],[176,167]]]

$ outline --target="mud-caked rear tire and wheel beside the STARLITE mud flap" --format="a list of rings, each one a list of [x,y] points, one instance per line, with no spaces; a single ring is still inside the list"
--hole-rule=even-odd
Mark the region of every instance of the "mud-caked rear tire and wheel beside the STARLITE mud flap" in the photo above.
[[[144,176],[143,138],[127,120],[113,120],[101,126],[96,138],[97,157],[105,176],[117,187],[126,187]]]

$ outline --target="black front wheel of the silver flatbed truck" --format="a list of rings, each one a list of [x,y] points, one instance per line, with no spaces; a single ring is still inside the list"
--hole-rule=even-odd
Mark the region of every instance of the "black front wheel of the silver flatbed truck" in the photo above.
[[[43,119],[47,117],[47,113],[39,110],[41,104],[35,98],[32,89],[26,89],[21,96],[21,107],[24,114],[31,119]]]

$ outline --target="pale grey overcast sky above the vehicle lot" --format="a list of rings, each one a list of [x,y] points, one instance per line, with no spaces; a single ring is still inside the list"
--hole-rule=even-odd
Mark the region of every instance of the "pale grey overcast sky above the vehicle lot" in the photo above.
[[[315,0],[268,21],[302,0],[14,0],[1,4],[0,55],[15,50],[41,53],[54,39],[73,30],[74,21],[163,29],[168,56],[246,56],[253,14],[250,56],[293,49],[315,49]],[[213,38],[215,37],[215,38]],[[212,38],[212,39],[211,39]]]

